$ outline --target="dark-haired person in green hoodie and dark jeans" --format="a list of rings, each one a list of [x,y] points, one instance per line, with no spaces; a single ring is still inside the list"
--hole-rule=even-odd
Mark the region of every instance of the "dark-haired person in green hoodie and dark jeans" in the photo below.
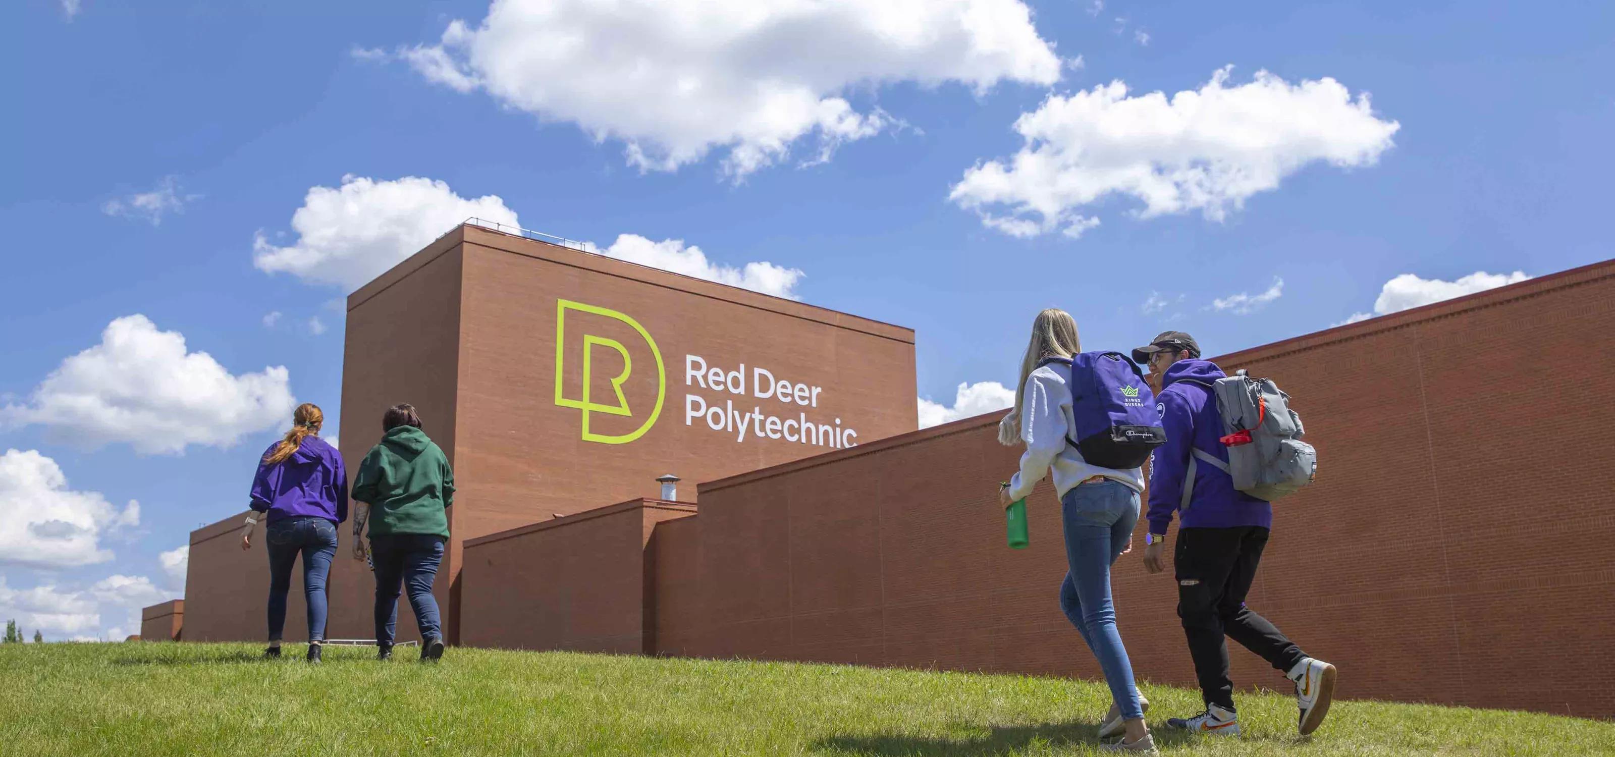
[[[392,405],[381,418],[381,444],[370,449],[354,478],[354,558],[368,554],[376,573],[378,659],[392,657],[401,589],[420,623],[420,659],[443,657],[443,623],[431,584],[449,539],[446,507],[454,504],[449,458],[420,428],[413,405]],[[367,552],[362,531],[370,523]]]

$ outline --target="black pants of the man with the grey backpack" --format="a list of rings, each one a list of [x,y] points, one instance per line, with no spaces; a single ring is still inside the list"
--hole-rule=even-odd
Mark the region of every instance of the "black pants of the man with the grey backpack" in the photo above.
[[[1184,528],[1177,531],[1177,617],[1184,618],[1189,655],[1195,660],[1200,696],[1206,704],[1234,709],[1234,683],[1227,678],[1227,639],[1289,671],[1307,657],[1268,618],[1245,607],[1256,578],[1268,529]]]

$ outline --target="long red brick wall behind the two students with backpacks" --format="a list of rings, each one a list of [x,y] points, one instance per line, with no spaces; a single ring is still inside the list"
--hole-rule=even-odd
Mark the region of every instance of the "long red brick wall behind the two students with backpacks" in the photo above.
[[[1248,604],[1345,697],[1615,715],[1612,332],[1604,263],[1216,358],[1273,376],[1319,450]],[[1047,483],[1030,549],[1003,544],[1019,450],[995,420],[703,484],[694,609],[669,607],[661,650],[1098,676],[1058,607]],[[1192,684],[1169,573],[1122,557],[1114,594],[1137,673]]]

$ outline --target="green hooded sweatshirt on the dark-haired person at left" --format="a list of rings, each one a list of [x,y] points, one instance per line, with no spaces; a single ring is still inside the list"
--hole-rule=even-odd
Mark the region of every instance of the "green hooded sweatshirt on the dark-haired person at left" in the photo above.
[[[396,426],[359,463],[354,499],[370,504],[370,534],[438,534],[449,537],[444,507],[454,504],[449,458],[426,433]]]

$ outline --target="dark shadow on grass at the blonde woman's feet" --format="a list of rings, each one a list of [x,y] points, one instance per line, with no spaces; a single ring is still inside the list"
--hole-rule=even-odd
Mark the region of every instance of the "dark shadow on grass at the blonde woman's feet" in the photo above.
[[[1092,723],[1045,723],[1019,726],[993,726],[992,733],[974,739],[945,739],[925,736],[832,736],[812,744],[822,754],[869,754],[909,757],[987,757],[1026,752],[1032,746],[1064,749],[1077,744],[1098,744],[1100,728]],[[1189,741],[1187,733],[1151,731],[1158,747],[1171,747]]]

